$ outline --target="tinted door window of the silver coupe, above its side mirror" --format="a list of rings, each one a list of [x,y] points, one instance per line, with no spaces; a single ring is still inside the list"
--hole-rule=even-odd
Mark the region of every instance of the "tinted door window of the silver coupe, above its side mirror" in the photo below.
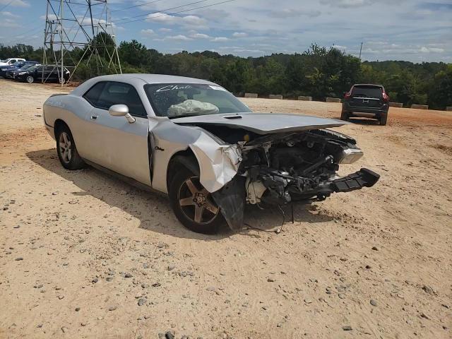
[[[138,117],[147,115],[136,89],[128,83],[110,81],[102,88],[97,107],[109,109],[112,105],[127,105],[130,114]]]

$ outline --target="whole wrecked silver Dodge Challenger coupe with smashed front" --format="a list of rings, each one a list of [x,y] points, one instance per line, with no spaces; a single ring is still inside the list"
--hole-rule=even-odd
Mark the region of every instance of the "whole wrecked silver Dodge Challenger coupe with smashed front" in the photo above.
[[[87,164],[169,196],[182,225],[214,233],[260,208],[323,201],[373,186],[345,121],[254,113],[220,85],[195,78],[121,74],[92,78],[44,103],[44,124],[66,169]]]

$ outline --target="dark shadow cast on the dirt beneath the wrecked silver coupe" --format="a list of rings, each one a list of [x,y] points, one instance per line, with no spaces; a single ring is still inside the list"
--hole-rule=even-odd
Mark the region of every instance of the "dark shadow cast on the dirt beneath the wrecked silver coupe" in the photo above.
[[[77,171],[64,169],[59,163],[55,149],[33,151],[27,153],[27,156],[42,168],[78,186],[81,191],[72,192],[74,196],[93,196],[109,206],[121,208],[131,217],[140,220],[139,227],[143,230],[151,230],[173,237],[206,241],[223,239],[232,235],[227,226],[215,235],[196,234],[186,230],[174,217],[167,196],[137,189],[92,167]],[[295,204],[295,222],[317,223],[331,220],[328,215],[316,214],[315,210],[316,206],[311,204]],[[283,213],[278,208],[261,210],[256,206],[249,206],[246,208],[244,220],[248,227],[242,230],[240,234],[258,237],[259,232],[277,230],[278,227],[283,225],[283,219],[286,227],[290,227],[292,225],[290,206],[285,206],[284,212],[285,217],[283,218]]]

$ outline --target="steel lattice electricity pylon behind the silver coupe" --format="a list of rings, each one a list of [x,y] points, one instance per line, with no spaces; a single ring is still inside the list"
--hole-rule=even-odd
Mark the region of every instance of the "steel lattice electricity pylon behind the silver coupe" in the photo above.
[[[55,71],[61,85],[77,70],[84,77],[122,73],[107,0],[47,0],[46,13],[43,83]]]

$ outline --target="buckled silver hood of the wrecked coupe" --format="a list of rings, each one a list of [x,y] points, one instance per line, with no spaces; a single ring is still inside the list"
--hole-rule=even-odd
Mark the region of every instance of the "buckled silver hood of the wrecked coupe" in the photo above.
[[[302,114],[280,113],[232,113],[212,114],[197,117],[172,119],[180,125],[227,126],[231,129],[246,129],[257,134],[281,133],[291,131],[307,131],[309,129],[325,129],[349,124],[346,121],[311,117]]]

